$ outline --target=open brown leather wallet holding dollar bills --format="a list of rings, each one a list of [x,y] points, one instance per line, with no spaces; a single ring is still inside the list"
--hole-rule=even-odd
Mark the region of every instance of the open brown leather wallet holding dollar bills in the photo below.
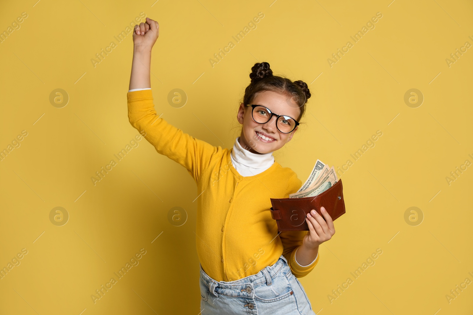
[[[330,214],[332,221],[345,213],[342,179],[338,179],[332,187],[314,197],[270,199],[271,217],[276,220],[278,231],[308,231],[307,213],[314,209],[322,215],[321,206]]]

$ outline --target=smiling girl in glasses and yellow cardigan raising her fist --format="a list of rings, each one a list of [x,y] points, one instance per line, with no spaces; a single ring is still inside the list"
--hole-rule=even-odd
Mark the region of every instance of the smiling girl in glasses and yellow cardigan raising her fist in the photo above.
[[[322,207],[324,217],[307,214],[308,232],[278,233],[270,213],[270,198],[287,198],[302,186],[272,153],[298,129],[307,84],[256,63],[236,115],[240,136],[230,150],[212,146],[156,115],[149,68],[158,35],[158,23],[148,17],[134,28],[128,118],[197,184],[201,314],[315,314],[296,277],[314,269],[319,245],[335,233],[332,218]]]

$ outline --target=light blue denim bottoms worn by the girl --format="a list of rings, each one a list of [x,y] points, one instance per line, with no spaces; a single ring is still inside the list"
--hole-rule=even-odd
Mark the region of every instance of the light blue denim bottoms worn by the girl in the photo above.
[[[278,261],[236,281],[215,281],[201,265],[201,315],[315,315],[288,261]]]

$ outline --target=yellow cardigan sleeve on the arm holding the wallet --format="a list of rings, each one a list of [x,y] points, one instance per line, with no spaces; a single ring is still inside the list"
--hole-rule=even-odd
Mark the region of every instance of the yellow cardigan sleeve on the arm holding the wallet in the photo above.
[[[286,195],[284,196],[284,198],[288,198],[289,194],[297,192],[301,186],[302,186],[301,180],[298,179],[297,174],[294,173],[289,178],[288,187],[287,187]],[[307,274],[309,274],[309,272],[311,272],[312,269],[314,269],[320,257],[320,255],[317,254],[317,257],[315,258],[315,260],[311,264],[305,267],[302,267],[300,264],[297,263],[296,251],[298,247],[302,245],[302,240],[304,239],[304,236],[306,236],[307,233],[308,231],[281,231],[279,234],[279,237],[282,242],[282,246],[284,247],[282,251],[282,255],[287,259],[292,273],[297,278],[307,276]]]

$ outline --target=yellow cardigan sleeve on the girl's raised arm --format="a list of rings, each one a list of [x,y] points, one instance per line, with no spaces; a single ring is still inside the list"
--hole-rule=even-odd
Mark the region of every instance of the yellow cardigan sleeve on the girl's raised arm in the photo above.
[[[160,154],[184,166],[195,182],[219,148],[196,139],[156,115],[151,90],[127,93],[128,119]]]

